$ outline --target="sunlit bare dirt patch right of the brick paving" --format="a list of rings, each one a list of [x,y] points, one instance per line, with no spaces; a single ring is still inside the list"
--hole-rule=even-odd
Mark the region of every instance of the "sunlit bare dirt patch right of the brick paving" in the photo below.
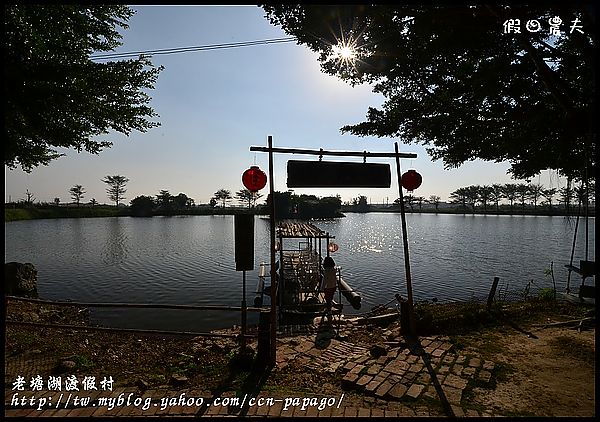
[[[594,416],[595,328],[524,329],[472,339],[505,371],[494,389],[475,388],[471,403],[506,416]]]

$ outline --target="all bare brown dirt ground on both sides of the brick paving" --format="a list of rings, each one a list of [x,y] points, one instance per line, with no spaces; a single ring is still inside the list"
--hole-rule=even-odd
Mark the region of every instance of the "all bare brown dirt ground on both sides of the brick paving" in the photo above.
[[[524,312],[530,315],[533,310]],[[564,308],[536,312],[535,318],[515,318],[450,334],[457,350],[472,350],[496,364],[493,388],[473,386],[463,396],[465,407],[493,416],[594,416],[595,319],[590,312],[595,310],[587,310],[585,315],[578,310],[564,315]],[[86,319],[76,308],[39,309],[25,304],[10,306],[7,318],[81,325]],[[587,325],[579,329],[576,324],[544,326],[582,318],[587,318]],[[182,374],[191,388],[235,390],[248,374],[239,365],[231,365],[235,357],[232,341],[6,328],[5,389],[11,388],[17,374],[50,373],[64,359],[73,360],[82,373],[119,374],[124,385],[143,381],[146,388],[168,384],[173,374]],[[371,341],[380,342],[385,329],[367,326],[364,336],[349,340],[368,346]],[[272,373],[264,387],[273,391],[329,387],[337,391],[340,381],[339,374],[309,374],[299,366],[297,371]]]

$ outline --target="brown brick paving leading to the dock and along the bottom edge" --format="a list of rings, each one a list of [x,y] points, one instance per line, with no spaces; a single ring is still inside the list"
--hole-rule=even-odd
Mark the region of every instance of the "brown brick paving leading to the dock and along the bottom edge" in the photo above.
[[[456,352],[449,338],[445,336],[420,337],[412,342],[397,337],[395,342],[381,346],[377,355],[369,348],[352,344],[344,340],[348,330],[344,328],[341,336],[331,335],[316,328],[287,328],[278,338],[277,364],[275,371],[285,368],[296,360],[304,362],[311,370],[343,374],[342,390],[335,398],[323,395],[309,396],[306,393],[294,393],[283,396],[271,392],[261,392],[257,397],[234,397],[227,393],[219,397],[220,403],[209,403],[209,392],[198,390],[147,390],[136,387],[115,388],[114,391],[74,392],[82,397],[91,397],[87,407],[69,406],[57,403],[59,392],[35,391],[36,398],[44,397],[52,405],[37,409],[37,404],[13,400],[19,396],[33,394],[31,391],[12,391],[12,383],[5,388],[6,417],[149,417],[149,416],[246,416],[246,417],[407,417],[407,416],[490,416],[476,410],[464,408],[461,404],[463,393],[471,381],[478,385],[491,383],[494,363],[479,356],[464,355]],[[355,329],[355,328],[354,328]],[[388,336],[389,338],[389,336]],[[383,349],[383,351],[381,350]],[[356,400],[346,401],[342,394],[353,391],[363,397],[362,403]],[[185,393],[182,396],[182,393]],[[440,394],[442,397],[440,397]],[[110,408],[98,402],[98,397],[124,397],[122,405]],[[164,398],[175,398],[168,403]],[[184,399],[179,400],[180,397]],[[198,407],[197,398],[203,398],[204,404]],[[130,398],[129,405],[127,398]],[[296,398],[296,402],[291,402]],[[411,408],[411,403],[426,398],[437,400],[445,410],[432,410],[432,407]],[[161,401],[163,399],[163,401]],[[286,400],[287,399],[287,400]],[[236,401],[237,400],[237,401]],[[242,406],[241,401],[245,405]],[[253,400],[253,401],[252,401]],[[188,404],[189,403],[189,404]],[[210,404],[213,404],[212,406]]]

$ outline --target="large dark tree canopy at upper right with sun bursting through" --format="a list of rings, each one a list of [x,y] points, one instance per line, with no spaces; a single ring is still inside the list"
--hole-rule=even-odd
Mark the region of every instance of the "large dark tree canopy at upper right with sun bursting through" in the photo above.
[[[595,174],[595,6],[262,7],[325,73],[384,96],[342,132],[422,144],[446,168],[482,159],[510,162],[516,178],[555,169],[577,179],[586,164]],[[510,19],[519,33],[505,33]],[[344,45],[354,59],[332,54]]]

